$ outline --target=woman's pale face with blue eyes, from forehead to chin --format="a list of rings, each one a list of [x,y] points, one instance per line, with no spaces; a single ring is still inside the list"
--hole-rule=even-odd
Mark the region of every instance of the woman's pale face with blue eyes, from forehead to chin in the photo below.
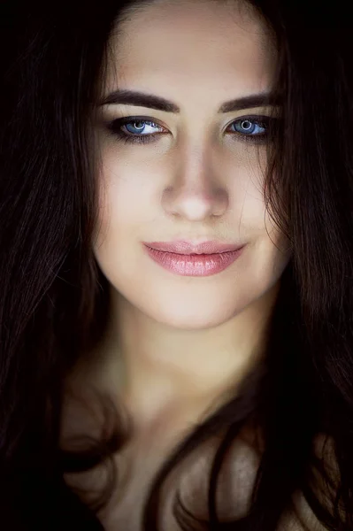
[[[96,259],[138,312],[217,326],[273,292],[289,260],[263,198],[270,37],[243,4],[160,0],[130,14],[111,50]],[[160,263],[145,245],[179,241],[244,247],[236,259],[153,253]]]

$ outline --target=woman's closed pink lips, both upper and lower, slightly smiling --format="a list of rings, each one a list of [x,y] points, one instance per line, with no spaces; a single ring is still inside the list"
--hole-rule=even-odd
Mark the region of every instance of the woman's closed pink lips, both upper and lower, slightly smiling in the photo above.
[[[242,254],[244,244],[219,242],[144,243],[150,258],[171,273],[181,276],[211,276],[221,273]]]

